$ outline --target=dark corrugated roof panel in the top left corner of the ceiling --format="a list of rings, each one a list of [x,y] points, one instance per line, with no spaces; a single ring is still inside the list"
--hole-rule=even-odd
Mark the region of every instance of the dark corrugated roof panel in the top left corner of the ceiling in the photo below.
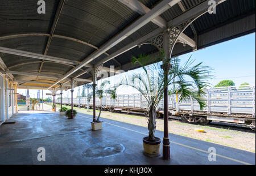
[[[48,33],[58,1],[46,1],[46,14],[38,14],[37,1],[0,1],[0,36],[16,33]]]

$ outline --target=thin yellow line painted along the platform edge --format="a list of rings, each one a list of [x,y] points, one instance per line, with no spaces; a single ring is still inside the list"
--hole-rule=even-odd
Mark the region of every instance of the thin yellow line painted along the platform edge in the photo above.
[[[83,116],[83,115],[79,115],[79,116],[85,117],[85,116]],[[89,117],[85,117],[85,118],[92,119],[92,118],[89,118]],[[112,124],[112,123],[108,123],[108,122],[104,122],[104,123],[107,123],[107,124],[109,124],[109,125],[113,125],[113,126],[116,126],[116,127],[119,127],[119,128],[123,128],[123,129],[129,130],[129,131],[134,131],[134,132],[137,132],[137,133],[139,133],[139,134],[148,135],[148,134],[145,134],[145,133],[143,133],[143,132],[131,130],[130,128],[126,128],[126,127],[114,125],[114,124]],[[170,143],[174,143],[174,144],[177,144],[177,145],[181,145],[181,146],[183,146],[183,147],[191,148],[191,149],[194,149],[194,150],[196,150],[196,151],[200,151],[200,152],[204,152],[204,153],[208,153],[208,154],[211,153],[211,152],[208,152],[208,151],[204,151],[204,150],[202,150],[202,149],[199,149],[199,148],[191,147],[191,146],[189,146],[189,145],[184,145],[184,144],[176,143],[175,141],[170,141]],[[211,154],[213,154],[213,153],[211,153]],[[230,158],[230,157],[227,157],[227,156],[223,156],[223,155],[221,155],[221,154],[217,154],[217,153],[216,153],[216,156],[219,156],[219,157],[222,157],[222,158],[226,158],[226,159],[231,160],[231,161],[240,162],[241,164],[252,165],[252,164],[250,164],[250,163],[243,162],[243,161],[240,161],[240,160],[236,160],[236,159],[234,159],[234,158]]]

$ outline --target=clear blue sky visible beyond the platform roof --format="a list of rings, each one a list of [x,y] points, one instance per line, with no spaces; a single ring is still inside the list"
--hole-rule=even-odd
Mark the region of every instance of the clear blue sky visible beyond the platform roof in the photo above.
[[[219,81],[229,79],[233,80],[236,85],[240,85],[244,82],[250,85],[255,85],[255,33],[242,36],[222,42],[221,44],[209,46],[208,48],[194,51],[192,53],[180,55],[181,63],[187,61],[192,55],[192,59],[195,59],[195,64],[203,62],[203,65],[213,68],[212,75],[214,79],[210,79],[209,83],[213,86]],[[133,72],[139,72],[142,68],[138,68],[133,71],[126,72],[125,74],[133,74]],[[109,78],[112,84],[118,83],[121,75]],[[98,81],[100,84],[101,81]],[[18,93],[26,95],[25,89],[18,89]],[[44,91],[44,94],[50,93]],[[64,91],[64,97],[67,97],[67,91]],[[75,88],[74,95],[77,96],[78,88]],[[126,93],[138,93],[133,88],[119,88],[118,94]],[[42,92],[40,93],[42,95]],[[37,90],[30,90],[30,96],[36,97]],[[47,97],[44,95],[44,97]],[[69,92],[69,97],[71,94]]]

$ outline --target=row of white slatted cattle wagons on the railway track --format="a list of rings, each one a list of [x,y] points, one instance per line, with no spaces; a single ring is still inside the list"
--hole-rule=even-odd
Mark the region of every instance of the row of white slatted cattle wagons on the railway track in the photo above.
[[[200,110],[195,100],[177,102],[179,95],[170,95],[169,117],[181,121],[207,124],[211,121],[240,123],[255,129],[255,86],[220,87],[204,91],[204,101],[207,106]],[[80,99],[80,100],[79,100]],[[92,108],[86,97],[73,98],[73,105]],[[60,100],[56,100],[59,104]],[[71,98],[63,98],[64,105],[71,105]],[[96,108],[100,108],[100,99],[96,97]],[[102,98],[102,109],[109,111],[136,112],[148,115],[147,101],[141,94],[118,95],[117,100],[109,96]],[[158,117],[163,117],[163,99],[158,105]]]

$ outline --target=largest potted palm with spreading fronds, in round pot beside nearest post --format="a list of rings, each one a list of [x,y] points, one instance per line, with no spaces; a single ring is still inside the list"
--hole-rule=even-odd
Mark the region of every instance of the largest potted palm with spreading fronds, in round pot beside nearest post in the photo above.
[[[137,89],[146,98],[149,115],[148,115],[148,136],[143,138],[144,154],[150,157],[160,155],[160,138],[155,136],[156,129],[156,109],[160,100],[163,98],[164,89],[171,88],[172,92],[179,93],[179,101],[192,97],[200,104],[200,108],[205,106],[201,97],[204,95],[203,89],[208,86],[207,79],[209,76],[209,67],[202,66],[201,63],[192,66],[191,58],[185,62],[184,66],[180,66],[179,58],[169,59],[167,62],[172,66],[168,72],[167,80],[164,80],[164,71],[160,62],[163,60],[164,53],[155,59],[150,55],[141,54],[138,58],[133,57],[133,63],[143,68],[142,73],[124,76],[121,78],[120,85],[130,86]],[[160,61],[154,65],[147,66],[149,61]],[[195,60],[194,60],[195,61]],[[191,78],[191,80],[187,80]],[[198,88],[197,91],[193,89]]]

